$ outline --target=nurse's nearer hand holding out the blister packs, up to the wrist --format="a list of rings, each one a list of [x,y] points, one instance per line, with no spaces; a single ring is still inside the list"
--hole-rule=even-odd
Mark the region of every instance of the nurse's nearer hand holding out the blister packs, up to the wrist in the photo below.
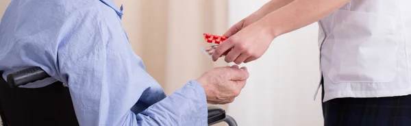
[[[265,53],[275,38],[266,23],[261,20],[241,29],[238,28],[239,26],[234,25],[223,35],[228,38],[213,52],[213,61],[218,60],[223,55],[225,55],[225,62],[236,64],[257,60]],[[234,32],[236,33],[231,35]]]

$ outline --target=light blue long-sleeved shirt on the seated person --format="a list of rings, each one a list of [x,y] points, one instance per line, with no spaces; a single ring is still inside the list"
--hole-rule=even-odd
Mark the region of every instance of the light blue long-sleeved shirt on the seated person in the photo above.
[[[166,96],[129,45],[123,13],[105,0],[13,0],[0,23],[0,71],[40,66],[69,87],[80,125],[207,125],[206,95],[190,80]]]

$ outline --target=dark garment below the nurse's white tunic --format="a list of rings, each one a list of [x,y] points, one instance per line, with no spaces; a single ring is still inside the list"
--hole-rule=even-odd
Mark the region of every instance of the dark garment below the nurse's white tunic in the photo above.
[[[325,126],[411,126],[411,95],[332,99],[323,116]]]

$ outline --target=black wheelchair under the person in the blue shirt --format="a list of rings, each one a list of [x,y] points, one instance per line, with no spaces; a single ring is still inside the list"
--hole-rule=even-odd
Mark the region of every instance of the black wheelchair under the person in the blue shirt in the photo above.
[[[0,75],[3,71],[0,71]],[[75,116],[69,88],[57,81],[42,88],[18,88],[50,77],[40,67],[10,73],[7,81],[0,77],[0,116],[3,126],[75,126]],[[208,107],[208,125],[237,123],[225,110]]]

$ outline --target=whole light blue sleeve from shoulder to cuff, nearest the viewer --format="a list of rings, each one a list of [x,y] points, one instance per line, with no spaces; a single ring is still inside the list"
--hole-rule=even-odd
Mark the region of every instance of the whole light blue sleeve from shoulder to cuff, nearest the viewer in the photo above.
[[[188,81],[166,97],[105,5],[73,13],[58,32],[59,78],[69,86],[79,125],[207,124],[201,85]]]

